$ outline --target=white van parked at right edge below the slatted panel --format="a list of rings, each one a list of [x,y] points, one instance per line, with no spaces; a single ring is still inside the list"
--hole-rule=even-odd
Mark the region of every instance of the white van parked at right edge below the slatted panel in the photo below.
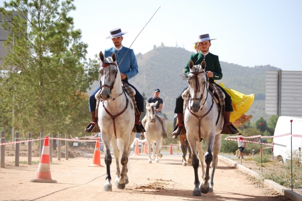
[[[290,123],[290,120],[293,120]],[[292,127],[292,130],[291,128]],[[281,116],[278,118],[277,125],[275,128],[274,136],[288,134],[292,132],[292,134],[302,135],[302,117],[287,117]],[[283,161],[290,159],[290,151],[291,151],[291,136],[286,135],[283,137],[274,137],[274,156],[277,157],[279,161]],[[302,148],[302,137],[292,137],[292,151],[300,150]]]

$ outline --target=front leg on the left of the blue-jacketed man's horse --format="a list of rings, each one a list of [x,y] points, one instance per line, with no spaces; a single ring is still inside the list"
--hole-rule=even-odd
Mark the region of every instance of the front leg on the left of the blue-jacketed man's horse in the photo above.
[[[104,143],[104,147],[105,147],[105,164],[106,164],[106,182],[104,184],[104,191],[112,191],[112,184],[111,182],[111,174],[110,174],[110,165],[112,162],[112,157],[110,154],[110,139],[108,138],[108,136],[104,136],[104,134],[102,134],[102,141]]]

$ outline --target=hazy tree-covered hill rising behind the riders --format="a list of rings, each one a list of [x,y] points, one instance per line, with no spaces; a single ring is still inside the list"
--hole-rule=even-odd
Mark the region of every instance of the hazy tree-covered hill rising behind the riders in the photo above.
[[[164,100],[163,112],[169,119],[174,116],[176,97],[187,86],[187,81],[182,80],[180,75],[192,53],[194,52],[183,48],[159,46],[145,54],[136,55],[139,73],[130,80],[130,83],[140,93],[144,92],[148,98],[153,95],[155,88],[159,88],[160,97]],[[220,61],[220,65],[223,78],[217,83],[222,82],[227,88],[244,94],[255,94],[255,101],[248,111],[248,114],[254,116],[251,122],[255,122],[260,117],[264,117],[268,121],[270,116],[265,113],[264,109],[265,75],[268,70],[279,70],[280,68],[269,65],[243,67],[223,61]],[[97,85],[97,82],[94,83],[92,89],[95,89]]]

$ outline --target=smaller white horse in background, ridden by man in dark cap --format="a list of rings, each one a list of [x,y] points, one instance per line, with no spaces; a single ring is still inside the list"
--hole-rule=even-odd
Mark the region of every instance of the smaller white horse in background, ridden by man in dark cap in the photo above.
[[[144,118],[146,118],[146,121],[143,121],[142,124],[145,127],[146,133],[146,142],[148,145],[148,153],[149,153],[149,163],[152,163],[151,160],[151,145],[153,148],[153,158],[155,158],[155,163],[158,163],[159,160],[158,158],[163,157],[163,155],[161,153],[159,153],[161,147],[162,147],[162,142],[163,142],[163,128],[161,123],[159,122],[159,120],[157,118],[159,118],[158,116],[156,116],[156,105],[157,105],[157,101],[155,103],[149,103],[147,102],[146,105],[146,116]],[[156,146],[154,144],[154,141],[156,142]],[[151,145],[150,145],[151,144]],[[155,157],[155,153],[156,153],[156,157]]]

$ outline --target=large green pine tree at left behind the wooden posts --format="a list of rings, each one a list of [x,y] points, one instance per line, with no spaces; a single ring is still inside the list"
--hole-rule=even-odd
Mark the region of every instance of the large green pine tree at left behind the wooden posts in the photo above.
[[[0,79],[0,101],[7,116],[14,109],[19,131],[80,134],[89,119],[85,92],[98,76],[97,61],[86,61],[88,45],[68,16],[73,1],[12,0],[0,8],[9,33],[1,68],[21,72]]]

